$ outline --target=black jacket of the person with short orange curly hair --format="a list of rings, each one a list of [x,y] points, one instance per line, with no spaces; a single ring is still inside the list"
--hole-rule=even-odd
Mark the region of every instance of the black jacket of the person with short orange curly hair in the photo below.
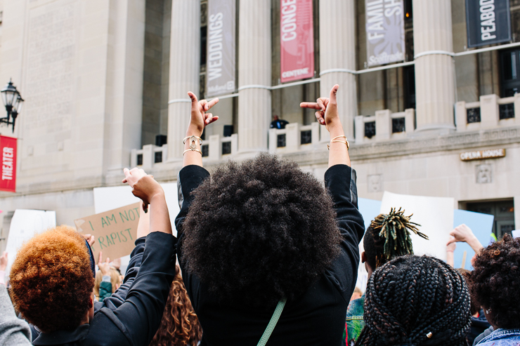
[[[148,346],[175,277],[175,243],[174,236],[163,232],[137,239],[123,284],[110,298],[94,303],[91,323],[53,333],[32,328],[32,344]]]

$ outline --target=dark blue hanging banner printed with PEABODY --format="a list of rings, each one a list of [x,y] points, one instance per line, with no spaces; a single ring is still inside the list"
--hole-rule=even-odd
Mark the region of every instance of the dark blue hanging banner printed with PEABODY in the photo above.
[[[511,41],[509,0],[466,0],[467,46]]]

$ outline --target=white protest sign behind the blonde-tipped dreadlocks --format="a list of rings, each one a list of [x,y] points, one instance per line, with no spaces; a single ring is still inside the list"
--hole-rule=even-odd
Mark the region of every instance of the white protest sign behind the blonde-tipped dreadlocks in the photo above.
[[[391,208],[403,208],[405,215],[413,214],[411,221],[421,225],[420,232],[429,240],[412,233],[413,252],[430,255],[446,261],[446,243],[453,229],[455,200],[448,197],[424,197],[384,192],[380,213],[388,214]]]

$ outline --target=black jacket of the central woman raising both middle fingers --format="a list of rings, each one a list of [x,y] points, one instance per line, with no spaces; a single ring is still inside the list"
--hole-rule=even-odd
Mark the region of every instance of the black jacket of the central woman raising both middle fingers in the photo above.
[[[359,264],[358,244],[363,237],[363,217],[355,206],[351,189],[352,170],[337,165],[325,173],[325,186],[332,195],[337,222],[342,233],[342,251],[332,267],[297,300],[288,300],[267,345],[341,345],[349,305]],[[199,278],[183,266],[182,224],[192,202],[190,192],[209,177],[200,166],[186,166],[179,172],[182,194],[181,212],[176,218],[177,253],[183,280],[204,331],[201,345],[256,345],[273,311],[255,310],[233,302],[219,303],[208,293]]]

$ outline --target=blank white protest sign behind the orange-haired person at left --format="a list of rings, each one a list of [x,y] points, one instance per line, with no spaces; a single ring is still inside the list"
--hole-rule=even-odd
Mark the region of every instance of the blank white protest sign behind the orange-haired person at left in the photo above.
[[[20,246],[35,234],[51,227],[56,227],[56,211],[15,210],[7,237],[6,251],[9,262],[6,267],[6,276],[11,272],[11,265]]]

